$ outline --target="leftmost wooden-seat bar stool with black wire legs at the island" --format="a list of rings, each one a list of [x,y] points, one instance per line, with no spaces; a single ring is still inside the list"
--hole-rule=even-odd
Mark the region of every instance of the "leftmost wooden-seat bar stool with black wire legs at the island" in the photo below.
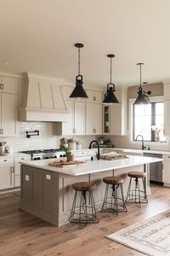
[[[71,215],[69,221],[80,225],[88,223],[98,223],[96,209],[94,204],[93,190],[96,189],[95,183],[74,183],[72,189],[75,189],[75,196],[72,203]],[[81,192],[79,205],[77,206],[77,192]],[[87,198],[87,192],[89,197]]]

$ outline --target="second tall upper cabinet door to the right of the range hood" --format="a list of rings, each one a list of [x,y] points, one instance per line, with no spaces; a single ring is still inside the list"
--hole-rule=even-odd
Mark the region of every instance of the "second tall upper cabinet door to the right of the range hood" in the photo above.
[[[85,135],[85,102],[75,102],[75,135]]]

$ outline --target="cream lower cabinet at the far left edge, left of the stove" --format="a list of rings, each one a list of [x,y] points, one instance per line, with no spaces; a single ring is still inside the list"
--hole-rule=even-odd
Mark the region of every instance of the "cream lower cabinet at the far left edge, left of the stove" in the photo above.
[[[14,188],[14,158],[0,160],[0,189]]]

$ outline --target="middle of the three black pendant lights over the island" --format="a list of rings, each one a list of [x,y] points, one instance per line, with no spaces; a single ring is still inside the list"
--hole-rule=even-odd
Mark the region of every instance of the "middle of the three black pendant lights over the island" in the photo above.
[[[111,61],[112,61],[112,58],[115,57],[115,55],[107,55],[107,56],[111,59]],[[114,94],[114,91],[115,91],[115,84],[113,84],[112,82],[107,84],[107,91],[105,93],[105,99],[103,101],[103,104],[111,105],[113,103],[119,103],[117,101],[117,98],[116,98],[115,94]]]

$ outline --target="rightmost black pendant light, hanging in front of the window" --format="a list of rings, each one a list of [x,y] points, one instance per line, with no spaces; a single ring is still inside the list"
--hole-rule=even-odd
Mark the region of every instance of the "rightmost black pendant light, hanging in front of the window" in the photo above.
[[[134,102],[134,104],[135,105],[137,105],[137,104],[148,104],[150,102],[150,98],[147,95],[150,95],[151,91],[150,90],[144,91],[142,89],[142,71],[141,71],[141,67],[142,67],[142,65],[144,65],[144,63],[137,63],[136,65],[139,65],[139,68],[140,68],[140,82],[139,82],[138,96],[137,96],[136,101]]]

